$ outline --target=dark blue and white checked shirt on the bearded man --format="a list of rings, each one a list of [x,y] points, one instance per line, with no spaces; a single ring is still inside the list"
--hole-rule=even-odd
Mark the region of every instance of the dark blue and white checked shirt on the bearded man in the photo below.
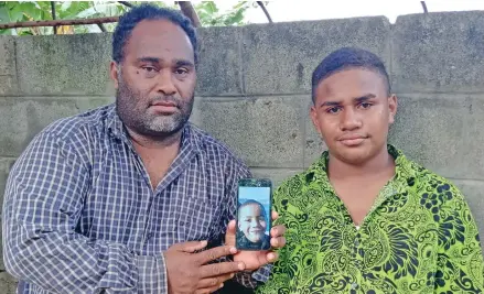
[[[162,251],[222,243],[249,170],[187,124],[153,190],[114,105],[52,123],[10,173],[3,254],[20,293],[166,293]],[[265,282],[270,266],[236,276]]]

